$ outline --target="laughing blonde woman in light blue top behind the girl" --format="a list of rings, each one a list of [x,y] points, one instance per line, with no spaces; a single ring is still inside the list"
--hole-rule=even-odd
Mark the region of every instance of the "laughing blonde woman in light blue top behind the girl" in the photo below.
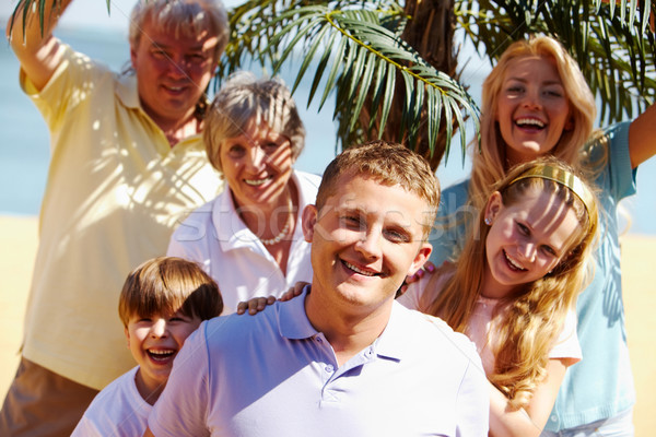
[[[444,190],[430,238],[434,265],[457,258],[489,187],[512,166],[539,156],[563,160],[599,187],[596,273],[577,300],[585,359],[565,375],[546,436],[605,428],[633,435],[635,391],[624,329],[617,206],[635,193],[637,166],[656,153],[656,108],[593,133],[595,118],[593,93],[557,40],[538,36],[512,44],[483,83],[481,144],[472,144],[471,178]]]

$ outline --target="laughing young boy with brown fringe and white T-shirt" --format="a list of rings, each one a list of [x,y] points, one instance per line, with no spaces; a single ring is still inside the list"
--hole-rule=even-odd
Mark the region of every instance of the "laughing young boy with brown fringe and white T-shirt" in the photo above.
[[[161,257],[134,269],[118,314],[138,366],[95,397],[72,436],[141,436],[185,339],[222,310],[216,283],[194,262]]]

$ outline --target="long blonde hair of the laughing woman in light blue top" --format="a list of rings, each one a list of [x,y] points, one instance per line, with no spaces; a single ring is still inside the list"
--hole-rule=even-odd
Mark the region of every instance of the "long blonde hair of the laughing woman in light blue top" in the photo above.
[[[581,150],[593,132],[593,123],[597,117],[595,97],[576,61],[563,46],[549,36],[536,36],[513,43],[483,82],[481,145],[479,150],[478,143],[473,144],[469,184],[469,202],[477,209],[483,206],[489,187],[501,180],[508,167],[506,145],[496,123],[496,106],[506,71],[513,61],[534,56],[554,61],[573,120],[573,128],[563,131],[558,144],[549,154],[577,166]]]

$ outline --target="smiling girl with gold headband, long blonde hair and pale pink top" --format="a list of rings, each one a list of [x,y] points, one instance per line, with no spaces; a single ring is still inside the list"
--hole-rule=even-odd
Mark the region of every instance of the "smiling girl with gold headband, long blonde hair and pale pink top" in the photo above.
[[[398,298],[476,343],[491,435],[538,436],[566,368],[581,359],[574,308],[597,224],[595,196],[569,166],[518,165],[493,186],[458,261]]]

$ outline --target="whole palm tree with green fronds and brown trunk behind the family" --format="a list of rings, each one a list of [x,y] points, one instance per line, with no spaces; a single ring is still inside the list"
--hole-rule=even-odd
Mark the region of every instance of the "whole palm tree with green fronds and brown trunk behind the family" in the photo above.
[[[47,4],[54,2],[58,13],[61,1],[21,0],[16,11],[35,8],[43,23]],[[418,17],[437,10],[440,25],[417,28]],[[309,101],[323,106],[336,97],[342,146],[374,138],[399,141],[436,167],[467,117],[478,126],[479,109],[457,82],[450,54],[434,61],[434,47],[426,50],[423,42],[455,55],[453,31],[459,28],[494,62],[513,40],[531,33],[554,36],[581,66],[607,123],[633,118],[654,102],[655,15],[653,0],[405,0],[403,7],[391,0],[248,0],[231,13],[231,43],[218,81],[247,59],[274,73],[293,66],[293,88],[314,71]],[[14,14],[10,25],[24,19]],[[433,52],[418,52],[408,42]],[[464,153],[465,135],[460,140]]]

